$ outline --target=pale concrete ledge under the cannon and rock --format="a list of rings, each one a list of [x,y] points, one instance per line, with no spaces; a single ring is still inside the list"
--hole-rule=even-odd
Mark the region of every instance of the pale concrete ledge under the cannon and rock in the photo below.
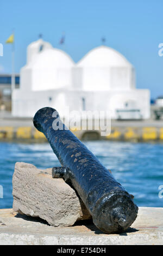
[[[139,207],[123,234],[104,234],[91,221],[52,227],[41,219],[0,210],[0,245],[163,245],[163,208]]]

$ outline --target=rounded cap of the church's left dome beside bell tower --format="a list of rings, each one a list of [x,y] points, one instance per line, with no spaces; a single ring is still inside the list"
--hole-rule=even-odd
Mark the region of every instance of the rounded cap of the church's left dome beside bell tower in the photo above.
[[[32,66],[36,69],[71,68],[74,62],[66,52],[53,48],[40,52]]]

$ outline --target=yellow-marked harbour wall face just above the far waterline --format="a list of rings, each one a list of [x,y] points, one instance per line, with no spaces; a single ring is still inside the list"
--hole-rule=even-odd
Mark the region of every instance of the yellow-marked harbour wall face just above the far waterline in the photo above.
[[[80,140],[117,140],[117,141],[162,141],[162,127],[111,127],[111,134],[101,136],[100,130],[80,130],[78,128],[71,131]],[[23,140],[23,141],[46,141],[45,135],[32,126],[16,127],[1,126],[0,141]]]

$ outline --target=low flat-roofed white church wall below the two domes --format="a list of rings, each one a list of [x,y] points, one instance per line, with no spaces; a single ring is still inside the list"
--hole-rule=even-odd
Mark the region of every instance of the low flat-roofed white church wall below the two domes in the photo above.
[[[112,111],[112,118],[118,117],[116,110],[129,109],[139,109],[142,118],[149,118],[150,116],[148,90],[121,92],[47,90],[27,92],[26,94],[21,94],[20,90],[17,92],[15,90],[13,97],[12,114],[14,116],[32,117],[38,109],[45,106],[57,109],[60,115],[64,114],[66,107],[68,107],[68,111]],[[24,108],[24,106],[26,107]]]

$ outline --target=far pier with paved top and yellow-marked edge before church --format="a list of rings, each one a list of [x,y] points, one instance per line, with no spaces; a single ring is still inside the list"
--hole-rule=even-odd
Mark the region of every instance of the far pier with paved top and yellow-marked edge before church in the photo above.
[[[101,136],[100,130],[81,130],[74,127],[71,131],[80,140],[116,140],[116,141],[163,141],[162,120],[111,120],[111,134]],[[41,141],[45,136],[33,126],[32,118],[12,117],[10,112],[1,112],[0,115],[1,141]]]

